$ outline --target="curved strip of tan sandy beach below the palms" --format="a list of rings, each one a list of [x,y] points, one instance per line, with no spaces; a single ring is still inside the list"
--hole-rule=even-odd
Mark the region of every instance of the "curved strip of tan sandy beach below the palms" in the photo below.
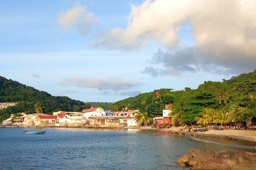
[[[165,129],[150,128],[150,127],[124,127],[130,129],[138,130],[158,130],[165,131]],[[184,131],[178,131],[179,127],[171,127],[167,129],[167,132],[174,133],[185,133]],[[202,135],[202,136],[212,136],[212,137],[226,137],[226,138],[236,138],[246,141],[254,141],[256,134],[250,130],[209,130],[207,132],[186,132],[188,135]]]

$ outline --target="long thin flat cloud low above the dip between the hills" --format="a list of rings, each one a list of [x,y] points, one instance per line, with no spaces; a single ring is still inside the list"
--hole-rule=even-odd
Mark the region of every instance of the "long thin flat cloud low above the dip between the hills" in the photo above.
[[[97,88],[98,90],[120,90],[125,88],[140,87],[143,85],[141,82],[137,81],[126,81],[121,78],[111,78],[111,79],[95,79],[95,78],[64,78],[60,85],[67,86],[77,86],[77,87],[87,87],[87,88]]]

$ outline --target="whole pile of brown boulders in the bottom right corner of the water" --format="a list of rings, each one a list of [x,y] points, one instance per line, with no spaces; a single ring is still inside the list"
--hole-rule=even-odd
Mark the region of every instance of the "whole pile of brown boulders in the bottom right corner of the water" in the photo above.
[[[189,149],[176,162],[191,170],[256,170],[256,153]]]

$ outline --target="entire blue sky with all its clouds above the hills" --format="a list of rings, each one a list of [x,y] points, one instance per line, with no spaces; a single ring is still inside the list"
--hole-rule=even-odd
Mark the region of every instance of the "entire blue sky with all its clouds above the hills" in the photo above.
[[[255,0],[1,0],[0,76],[84,102],[256,69]]]

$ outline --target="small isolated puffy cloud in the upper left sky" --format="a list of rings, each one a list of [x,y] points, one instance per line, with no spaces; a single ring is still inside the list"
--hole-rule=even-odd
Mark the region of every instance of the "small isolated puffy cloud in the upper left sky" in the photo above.
[[[89,30],[91,25],[98,20],[95,14],[87,11],[86,8],[82,6],[77,6],[65,12],[61,12],[57,23],[66,29],[75,27],[79,34],[85,34],[85,31]]]

